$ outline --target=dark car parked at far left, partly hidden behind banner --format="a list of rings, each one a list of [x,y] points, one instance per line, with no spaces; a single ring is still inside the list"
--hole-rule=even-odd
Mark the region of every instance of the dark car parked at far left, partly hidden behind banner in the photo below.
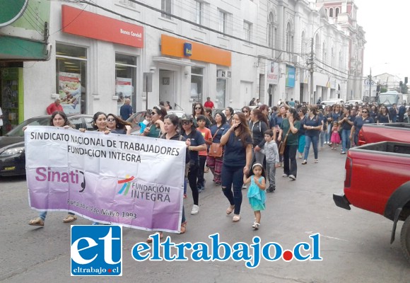
[[[51,115],[33,117],[12,129],[4,137],[0,137],[0,176],[25,175],[25,126],[48,126]],[[67,115],[71,124],[79,128],[93,130],[92,115]]]

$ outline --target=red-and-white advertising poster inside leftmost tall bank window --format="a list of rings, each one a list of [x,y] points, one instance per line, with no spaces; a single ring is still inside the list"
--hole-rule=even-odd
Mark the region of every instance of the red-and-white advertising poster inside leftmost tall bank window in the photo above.
[[[59,72],[59,95],[66,114],[81,113],[81,74]]]

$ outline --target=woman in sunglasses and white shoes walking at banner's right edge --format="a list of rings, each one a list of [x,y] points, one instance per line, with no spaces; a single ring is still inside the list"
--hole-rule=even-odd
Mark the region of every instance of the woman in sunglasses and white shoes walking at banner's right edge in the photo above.
[[[199,151],[206,151],[204,136],[194,126],[192,117],[184,115],[181,118],[182,122],[182,137],[189,142],[189,171],[188,181],[189,187],[192,190],[192,198],[194,205],[192,206],[191,214],[195,215],[199,212],[199,190],[198,190],[198,171],[199,171]]]

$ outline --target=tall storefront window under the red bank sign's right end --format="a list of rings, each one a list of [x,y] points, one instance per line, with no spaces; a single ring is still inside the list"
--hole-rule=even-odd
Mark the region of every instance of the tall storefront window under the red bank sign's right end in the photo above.
[[[132,109],[136,109],[136,57],[115,54],[115,96],[117,100],[117,114],[124,100],[131,100]]]

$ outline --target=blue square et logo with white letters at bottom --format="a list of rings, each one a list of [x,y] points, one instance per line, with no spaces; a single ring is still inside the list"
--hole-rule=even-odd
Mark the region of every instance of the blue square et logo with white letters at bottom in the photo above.
[[[122,226],[71,226],[71,276],[122,276]]]

